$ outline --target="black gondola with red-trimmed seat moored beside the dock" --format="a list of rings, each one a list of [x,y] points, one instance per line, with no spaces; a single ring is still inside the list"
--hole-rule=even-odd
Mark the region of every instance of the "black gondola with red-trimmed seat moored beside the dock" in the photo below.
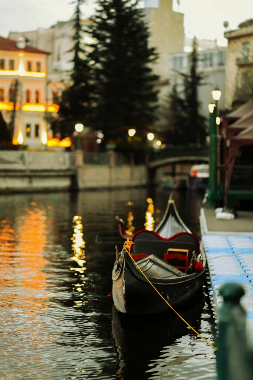
[[[133,241],[129,251],[145,276],[174,307],[190,300],[202,287],[206,256],[197,236],[181,220],[172,196],[155,231],[126,233],[118,216],[120,234]],[[112,271],[116,309],[129,314],[155,314],[170,309],[152,288],[126,250],[118,252]]]

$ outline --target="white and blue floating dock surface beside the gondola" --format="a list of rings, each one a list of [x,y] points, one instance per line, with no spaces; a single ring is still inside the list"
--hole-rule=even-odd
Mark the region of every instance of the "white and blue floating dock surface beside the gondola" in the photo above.
[[[201,209],[202,244],[206,252],[215,314],[222,305],[219,294],[225,282],[240,283],[245,289],[241,304],[247,311],[247,334],[253,341],[253,233],[208,231],[205,210]]]

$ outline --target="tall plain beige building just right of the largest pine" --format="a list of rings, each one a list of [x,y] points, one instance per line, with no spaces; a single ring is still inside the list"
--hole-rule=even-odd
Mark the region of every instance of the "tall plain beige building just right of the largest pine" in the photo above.
[[[184,15],[173,11],[173,0],[145,0],[144,4],[150,46],[156,47],[159,53],[154,71],[160,76],[161,84],[168,85],[169,55],[184,50]]]

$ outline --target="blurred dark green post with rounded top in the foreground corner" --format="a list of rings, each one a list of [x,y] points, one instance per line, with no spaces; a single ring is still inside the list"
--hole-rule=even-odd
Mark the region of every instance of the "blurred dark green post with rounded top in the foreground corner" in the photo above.
[[[253,350],[246,336],[246,312],[240,304],[244,289],[237,283],[221,286],[219,310],[218,380],[252,380]]]

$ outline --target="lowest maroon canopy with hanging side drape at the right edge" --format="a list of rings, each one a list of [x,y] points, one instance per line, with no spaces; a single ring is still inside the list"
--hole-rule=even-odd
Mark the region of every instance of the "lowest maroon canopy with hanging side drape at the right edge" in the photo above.
[[[242,145],[253,145],[253,121],[250,127],[240,132],[237,136],[230,138],[230,146],[228,151],[228,160],[226,168],[226,177],[225,177],[225,198],[224,206],[227,205],[227,196],[229,185],[232,177],[233,167],[235,165],[237,152],[239,147]]]

